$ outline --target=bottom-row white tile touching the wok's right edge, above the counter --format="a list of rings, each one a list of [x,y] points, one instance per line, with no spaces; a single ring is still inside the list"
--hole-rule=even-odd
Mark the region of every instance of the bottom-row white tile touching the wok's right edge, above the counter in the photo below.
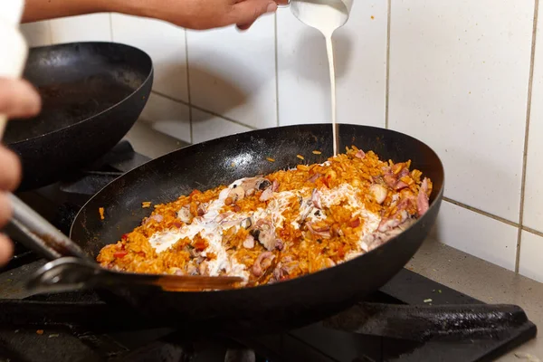
[[[518,228],[443,201],[433,238],[487,262],[515,270]]]

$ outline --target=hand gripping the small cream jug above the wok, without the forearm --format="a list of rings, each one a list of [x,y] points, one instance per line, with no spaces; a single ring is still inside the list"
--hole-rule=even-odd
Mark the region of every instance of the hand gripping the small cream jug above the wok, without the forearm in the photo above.
[[[236,24],[246,30],[262,14],[275,13],[287,0],[140,0],[128,14],[153,17],[187,29],[205,30]]]

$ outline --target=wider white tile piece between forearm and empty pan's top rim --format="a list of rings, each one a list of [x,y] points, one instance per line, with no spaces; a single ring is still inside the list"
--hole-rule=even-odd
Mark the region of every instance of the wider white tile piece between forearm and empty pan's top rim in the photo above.
[[[89,14],[51,20],[52,43],[110,42],[110,14]]]

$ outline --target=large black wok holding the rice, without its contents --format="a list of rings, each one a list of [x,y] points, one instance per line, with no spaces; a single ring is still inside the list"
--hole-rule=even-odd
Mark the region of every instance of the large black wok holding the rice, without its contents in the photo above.
[[[443,165],[424,143],[392,130],[341,125],[340,135],[340,149],[356,145],[384,159],[411,159],[413,167],[431,177],[430,209],[404,233],[350,262],[291,281],[234,291],[118,288],[100,291],[103,298],[128,302],[143,315],[179,329],[262,333],[326,318],[376,291],[404,267],[432,227],[443,196]],[[297,154],[306,157],[303,162],[323,162],[332,153],[331,141],[330,125],[319,124],[256,130],[179,149],[102,189],[77,215],[71,238],[95,257],[101,247],[116,243],[150,213],[141,208],[142,201],[166,203],[194,188],[204,190],[294,167],[302,162]],[[315,149],[322,155],[313,155]],[[99,207],[106,210],[103,221]]]

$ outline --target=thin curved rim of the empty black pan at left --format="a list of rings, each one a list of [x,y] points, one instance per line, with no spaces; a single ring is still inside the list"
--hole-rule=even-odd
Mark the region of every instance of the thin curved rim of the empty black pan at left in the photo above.
[[[120,48],[134,49],[135,51],[140,52],[143,56],[145,56],[147,58],[147,61],[149,62],[150,66],[151,66],[150,70],[149,70],[149,73],[148,73],[148,76],[145,78],[144,81],[141,82],[141,84],[139,85],[139,87],[136,90],[133,90],[129,94],[129,96],[125,97],[122,100],[119,100],[119,102],[113,104],[112,106],[108,107],[105,110],[100,111],[99,113],[96,113],[95,115],[93,115],[91,117],[81,119],[80,121],[72,123],[72,124],[70,124],[68,126],[64,126],[61,129],[54,129],[54,130],[51,130],[49,132],[43,133],[42,135],[39,135],[39,136],[33,136],[33,137],[30,137],[30,138],[24,138],[24,139],[18,140],[16,142],[6,143],[5,146],[18,146],[18,145],[21,145],[21,144],[23,144],[25,142],[32,141],[34,139],[43,138],[45,136],[49,136],[49,135],[52,135],[54,133],[61,132],[61,131],[65,130],[65,129],[71,129],[72,127],[78,126],[81,123],[84,123],[84,122],[86,122],[86,121],[88,121],[90,119],[97,118],[97,117],[101,116],[102,114],[104,114],[104,113],[106,113],[106,112],[108,112],[108,111],[110,111],[110,110],[112,110],[112,109],[114,109],[116,107],[119,107],[119,105],[121,105],[125,101],[128,101],[130,98],[132,98],[134,96],[134,94],[136,94],[139,90],[141,90],[143,87],[146,86],[149,79],[153,78],[153,75],[155,73],[155,67],[153,65],[153,60],[151,59],[150,55],[147,52],[144,52],[143,50],[141,50],[141,49],[139,49],[139,48],[137,48],[135,46],[125,44],[125,43],[116,43],[116,42],[71,42],[71,43],[60,43],[60,44],[53,44],[53,45],[33,46],[30,49],[33,50],[33,49],[43,49],[43,48],[57,48],[57,47],[60,48],[62,46],[76,45],[76,44],[80,44],[80,45],[81,44],[90,44],[90,45],[91,44],[114,44],[114,45],[119,46]]]

